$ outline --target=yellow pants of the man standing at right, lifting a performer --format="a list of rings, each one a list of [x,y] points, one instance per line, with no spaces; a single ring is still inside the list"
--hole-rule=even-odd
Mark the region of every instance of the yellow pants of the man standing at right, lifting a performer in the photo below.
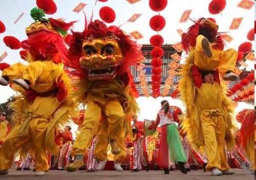
[[[229,169],[225,151],[226,124],[219,110],[204,110],[200,116],[208,159],[206,169]]]

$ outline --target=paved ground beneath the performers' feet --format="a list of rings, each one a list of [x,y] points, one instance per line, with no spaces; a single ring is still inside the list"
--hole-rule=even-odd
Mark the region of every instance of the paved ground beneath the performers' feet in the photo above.
[[[86,172],[76,171],[67,172],[59,170],[49,170],[44,176],[34,176],[32,171],[16,171],[10,169],[9,174],[0,176],[0,179],[7,180],[30,180],[30,179],[45,179],[45,180],[56,180],[56,179],[70,179],[70,180],[254,180],[254,175],[245,169],[234,169],[236,172],[232,175],[221,175],[212,176],[210,172],[203,172],[202,170],[191,170],[187,174],[182,174],[180,171],[170,171],[170,174],[164,174],[163,170],[145,170],[139,172],[130,171],[97,171],[97,172]]]

